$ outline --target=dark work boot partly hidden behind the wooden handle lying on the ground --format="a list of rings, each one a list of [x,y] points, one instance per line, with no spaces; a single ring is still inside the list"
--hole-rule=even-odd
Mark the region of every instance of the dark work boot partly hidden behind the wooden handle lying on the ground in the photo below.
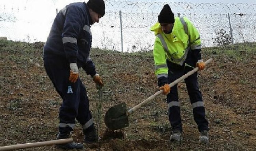
[[[69,138],[69,134],[59,133],[57,136],[57,139],[66,139],[66,138]],[[83,144],[80,144],[80,143],[71,142],[66,144],[56,144],[55,147],[64,149],[64,150],[69,150],[69,149],[83,149],[84,146]]]

